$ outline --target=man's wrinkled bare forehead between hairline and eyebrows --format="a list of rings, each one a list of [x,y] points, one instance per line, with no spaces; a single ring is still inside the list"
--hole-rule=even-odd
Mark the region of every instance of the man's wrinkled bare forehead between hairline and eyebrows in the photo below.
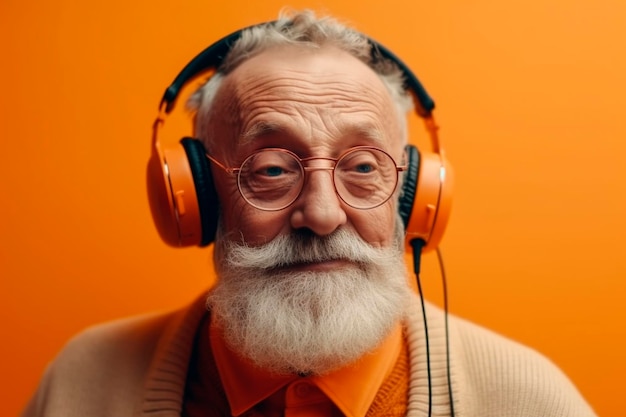
[[[380,77],[334,47],[265,50],[225,77],[217,101],[222,114],[214,122],[231,129],[233,144],[305,126],[310,135],[362,134],[390,146],[400,135]]]

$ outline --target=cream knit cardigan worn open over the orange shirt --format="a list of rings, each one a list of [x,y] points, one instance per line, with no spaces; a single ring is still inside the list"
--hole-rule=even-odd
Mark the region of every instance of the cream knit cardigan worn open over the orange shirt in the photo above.
[[[182,310],[87,329],[50,364],[23,417],[178,417],[205,296]],[[444,315],[427,305],[432,416],[449,416]],[[457,417],[595,416],[568,378],[537,352],[449,317]],[[428,416],[428,377],[419,301],[405,333],[411,380],[407,416]]]

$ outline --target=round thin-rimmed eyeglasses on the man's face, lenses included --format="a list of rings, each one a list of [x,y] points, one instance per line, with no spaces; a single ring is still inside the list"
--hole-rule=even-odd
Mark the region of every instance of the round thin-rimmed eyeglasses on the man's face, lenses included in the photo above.
[[[265,148],[248,156],[238,168],[206,157],[229,174],[237,175],[242,197],[259,210],[282,210],[298,199],[308,171],[332,171],[335,192],[350,207],[372,209],[385,203],[398,185],[397,165],[382,149],[356,146],[338,158],[300,158],[287,149]]]

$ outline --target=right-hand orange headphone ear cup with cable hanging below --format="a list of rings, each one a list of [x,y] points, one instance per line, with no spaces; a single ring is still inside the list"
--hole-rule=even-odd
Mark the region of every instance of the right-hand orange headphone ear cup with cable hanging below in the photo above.
[[[423,252],[436,249],[448,224],[452,205],[453,173],[450,164],[439,153],[418,152],[407,146],[408,170],[398,205],[405,224],[405,248],[413,239],[422,239]],[[417,154],[417,159],[412,158]],[[417,175],[414,176],[414,172]],[[412,185],[414,187],[411,189]],[[410,196],[413,200],[410,201]],[[405,219],[407,208],[411,207]]]

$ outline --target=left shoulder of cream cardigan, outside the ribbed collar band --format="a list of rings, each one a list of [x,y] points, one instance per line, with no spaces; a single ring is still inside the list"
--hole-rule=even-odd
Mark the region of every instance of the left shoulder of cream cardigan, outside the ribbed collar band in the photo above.
[[[75,336],[46,369],[22,417],[133,415],[162,322],[125,319]]]

